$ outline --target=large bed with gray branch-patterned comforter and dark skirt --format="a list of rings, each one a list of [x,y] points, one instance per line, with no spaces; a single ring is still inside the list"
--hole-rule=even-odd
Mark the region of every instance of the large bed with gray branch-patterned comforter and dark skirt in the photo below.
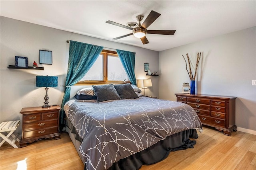
[[[126,98],[130,91],[122,95],[118,88],[120,98],[113,99],[111,90],[97,88],[92,95],[97,100],[72,99],[64,105],[66,131],[84,169],[136,170],[163,160],[170,151],[193,148],[196,141],[190,138],[198,137],[196,129],[202,131],[199,117],[187,104],[136,93]],[[101,101],[102,93],[113,100]]]

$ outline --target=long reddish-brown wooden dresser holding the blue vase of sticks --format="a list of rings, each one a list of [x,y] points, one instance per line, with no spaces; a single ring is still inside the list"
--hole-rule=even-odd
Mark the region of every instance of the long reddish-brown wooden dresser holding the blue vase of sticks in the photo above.
[[[225,135],[236,131],[236,97],[204,94],[175,94],[177,102],[194,108],[203,125],[215,127]]]

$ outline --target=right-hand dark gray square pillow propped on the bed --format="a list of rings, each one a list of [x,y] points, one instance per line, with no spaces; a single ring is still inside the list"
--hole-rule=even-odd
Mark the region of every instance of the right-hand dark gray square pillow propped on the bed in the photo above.
[[[139,98],[134,92],[131,84],[115,84],[114,87],[121,99],[136,99]]]

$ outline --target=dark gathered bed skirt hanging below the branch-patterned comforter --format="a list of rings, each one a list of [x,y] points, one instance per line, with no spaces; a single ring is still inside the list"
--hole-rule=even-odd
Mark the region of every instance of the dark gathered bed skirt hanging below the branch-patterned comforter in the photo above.
[[[70,135],[70,138],[82,162],[85,164],[85,160],[78,150],[81,139],[76,134],[76,129],[69,120],[66,121],[66,125],[66,131]],[[171,151],[194,148],[196,141],[190,140],[190,138],[198,138],[196,129],[189,129],[166,137],[165,140],[159,141],[145,150],[115,162],[110,168],[108,168],[108,170],[138,170],[142,165],[155,164],[167,158]],[[84,166],[84,170],[86,170],[86,165]]]

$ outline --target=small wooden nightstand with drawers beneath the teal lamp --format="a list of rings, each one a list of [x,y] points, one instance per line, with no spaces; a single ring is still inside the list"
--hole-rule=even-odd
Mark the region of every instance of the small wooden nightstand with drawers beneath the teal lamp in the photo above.
[[[60,139],[60,106],[22,108],[22,140],[20,148],[42,138]]]

